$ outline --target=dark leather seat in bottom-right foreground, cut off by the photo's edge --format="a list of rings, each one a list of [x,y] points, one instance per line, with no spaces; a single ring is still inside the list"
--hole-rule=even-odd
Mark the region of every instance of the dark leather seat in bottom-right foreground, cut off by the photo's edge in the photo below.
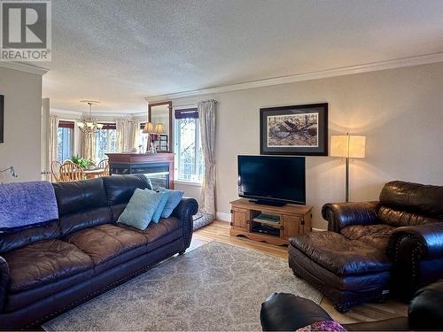
[[[332,320],[320,305],[288,293],[274,293],[261,305],[264,331],[295,331],[315,322]],[[409,303],[408,317],[343,324],[347,331],[435,331],[443,330],[443,281],[416,292]]]

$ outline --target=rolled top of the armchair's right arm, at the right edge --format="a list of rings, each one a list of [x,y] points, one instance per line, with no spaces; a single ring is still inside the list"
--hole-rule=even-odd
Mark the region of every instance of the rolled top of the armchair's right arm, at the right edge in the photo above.
[[[443,222],[396,228],[387,247],[393,261],[411,259],[443,259]]]

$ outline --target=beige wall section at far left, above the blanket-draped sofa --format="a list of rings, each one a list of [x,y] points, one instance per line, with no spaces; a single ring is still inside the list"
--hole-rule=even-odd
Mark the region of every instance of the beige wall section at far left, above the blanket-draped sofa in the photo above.
[[[0,168],[14,166],[19,177],[0,175],[0,181],[41,180],[42,76],[0,66],[4,95],[4,143]]]

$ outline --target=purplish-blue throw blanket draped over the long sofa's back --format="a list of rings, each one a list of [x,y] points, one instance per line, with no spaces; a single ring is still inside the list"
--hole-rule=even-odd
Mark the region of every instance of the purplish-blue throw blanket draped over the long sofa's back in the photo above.
[[[0,184],[0,232],[58,219],[51,182]]]

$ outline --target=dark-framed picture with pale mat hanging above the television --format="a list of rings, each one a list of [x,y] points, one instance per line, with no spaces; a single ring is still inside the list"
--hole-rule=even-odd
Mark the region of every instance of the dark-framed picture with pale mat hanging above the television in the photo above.
[[[260,108],[260,154],[328,155],[328,103]]]

